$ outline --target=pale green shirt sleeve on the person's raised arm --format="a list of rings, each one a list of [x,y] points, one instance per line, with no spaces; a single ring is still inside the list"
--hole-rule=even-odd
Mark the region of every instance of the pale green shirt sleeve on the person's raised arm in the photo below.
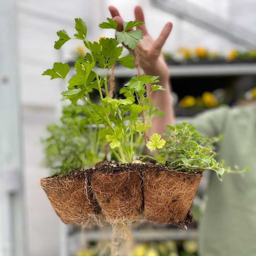
[[[208,137],[216,137],[223,133],[229,111],[228,106],[207,110],[196,115],[190,123],[196,127],[198,133]]]

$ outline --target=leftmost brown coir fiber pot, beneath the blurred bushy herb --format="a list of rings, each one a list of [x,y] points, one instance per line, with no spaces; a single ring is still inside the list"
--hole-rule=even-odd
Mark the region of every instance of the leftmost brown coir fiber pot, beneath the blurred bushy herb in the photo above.
[[[41,179],[41,186],[64,223],[85,224],[96,219],[99,209],[85,170]]]

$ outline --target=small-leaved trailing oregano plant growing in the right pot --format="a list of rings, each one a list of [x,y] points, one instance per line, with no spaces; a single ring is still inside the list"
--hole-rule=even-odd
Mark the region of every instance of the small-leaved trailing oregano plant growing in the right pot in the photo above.
[[[182,123],[168,125],[164,137],[165,144],[159,151],[154,152],[153,158],[156,163],[164,164],[171,170],[193,174],[212,170],[220,180],[224,172],[248,171],[247,167],[244,171],[232,171],[229,167],[224,168],[222,162],[216,161],[217,153],[214,151],[214,146],[221,136],[212,138],[203,136],[196,132],[196,127]],[[150,149],[155,150],[152,146]]]

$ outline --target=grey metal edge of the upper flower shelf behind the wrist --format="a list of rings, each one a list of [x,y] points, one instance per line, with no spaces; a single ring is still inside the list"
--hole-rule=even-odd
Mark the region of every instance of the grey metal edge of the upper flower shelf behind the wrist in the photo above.
[[[181,76],[244,76],[256,75],[256,64],[216,64],[216,65],[169,65],[172,77]],[[107,72],[97,68],[97,72],[105,75]],[[115,68],[117,78],[130,77],[137,74],[136,69],[127,69],[121,66]]]

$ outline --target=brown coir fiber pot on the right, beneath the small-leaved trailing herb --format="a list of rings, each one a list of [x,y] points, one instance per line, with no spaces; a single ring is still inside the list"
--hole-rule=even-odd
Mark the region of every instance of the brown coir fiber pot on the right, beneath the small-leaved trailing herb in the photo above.
[[[174,172],[159,165],[143,170],[145,217],[186,229],[189,209],[202,174]]]

